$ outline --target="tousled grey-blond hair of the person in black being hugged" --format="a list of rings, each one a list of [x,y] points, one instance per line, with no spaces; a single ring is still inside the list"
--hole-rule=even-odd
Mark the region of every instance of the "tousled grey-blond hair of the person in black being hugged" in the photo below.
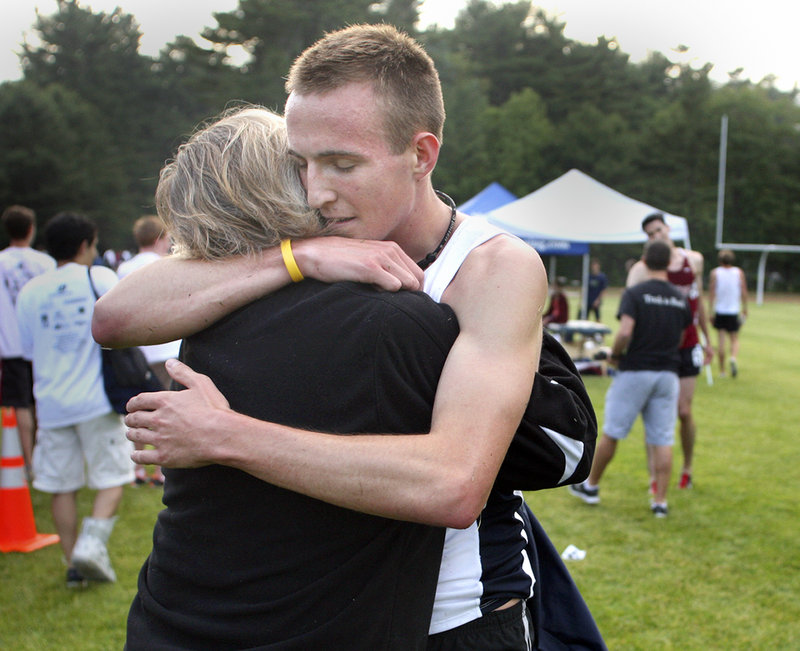
[[[231,109],[195,132],[161,170],[156,207],[173,252],[188,258],[248,255],[322,231],[285,121],[261,106]]]

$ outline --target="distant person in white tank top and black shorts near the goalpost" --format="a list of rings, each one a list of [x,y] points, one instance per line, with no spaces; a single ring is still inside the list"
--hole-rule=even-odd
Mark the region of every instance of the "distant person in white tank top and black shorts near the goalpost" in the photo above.
[[[736,377],[739,368],[739,328],[747,317],[747,281],[744,271],[733,265],[733,251],[719,252],[719,266],[711,270],[708,286],[708,306],[714,314],[714,329],[717,331],[717,356],[719,374],[725,375],[726,338],[730,341],[731,376]]]

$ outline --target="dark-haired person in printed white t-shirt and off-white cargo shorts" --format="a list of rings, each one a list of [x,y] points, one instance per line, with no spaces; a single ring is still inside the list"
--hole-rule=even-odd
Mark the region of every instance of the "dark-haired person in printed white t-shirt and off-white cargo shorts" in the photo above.
[[[79,587],[87,580],[116,580],[108,537],[123,486],[134,477],[133,446],[106,396],[100,346],[91,332],[92,285],[102,295],[117,276],[92,266],[97,226],[87,217],[59,213],[48,222],[45,240],[57,268],[29,281],[17,298],[22,354],[33,363],[39,421],[33,487],[52,493],[67,586]],[[78,535],[77,495],[84,485],[97,493]]]

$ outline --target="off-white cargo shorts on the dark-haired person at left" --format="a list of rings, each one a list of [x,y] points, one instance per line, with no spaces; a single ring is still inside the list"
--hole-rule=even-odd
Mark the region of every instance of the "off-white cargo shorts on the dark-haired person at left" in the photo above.
[[[33,449],[33,487],[45,493],[95,490],[133,481],[133,443],[119,414],[110,411],[69,427],[40,427]],[[87,482],[88,474],[88,482]]]

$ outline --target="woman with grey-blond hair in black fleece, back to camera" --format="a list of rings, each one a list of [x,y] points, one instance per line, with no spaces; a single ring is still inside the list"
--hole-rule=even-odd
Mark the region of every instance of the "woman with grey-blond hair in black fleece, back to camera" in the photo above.
[[[295,281],[184,340],[181,360],[205,374],[198,382],[227,415],[313,436],[429,431],[455,316],[421,293],[299,282],[291,238],[322,229],[281,117],[227,112],[180,147],[156,196],[178,256],[242,255],[255,266],[280,242]],[[190,393],[148,395],[189,416]],[[228,431],[219,426],[220,441]],[[257,437],[247,454],[275,451],[272,437]],[[128,651],[426,647],[442,528],[357,513],[228,466],[164,474]]]

